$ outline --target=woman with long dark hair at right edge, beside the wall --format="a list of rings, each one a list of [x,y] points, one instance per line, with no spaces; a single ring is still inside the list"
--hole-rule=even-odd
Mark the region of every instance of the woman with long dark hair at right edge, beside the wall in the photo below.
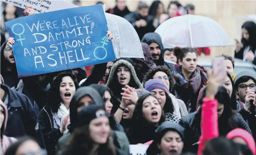
[[[235,44],[235,58],[249,61],[256,65],[256,24],[248,21],[242,25],[241,43]]]

